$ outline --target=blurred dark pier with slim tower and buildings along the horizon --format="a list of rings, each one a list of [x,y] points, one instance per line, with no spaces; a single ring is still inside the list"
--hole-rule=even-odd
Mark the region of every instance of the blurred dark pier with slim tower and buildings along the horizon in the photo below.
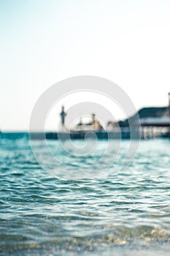
[[[68,130],[65,127],[66,112],[64,107],[61,109],[61,132],[45,132],[47,139],[85,139],[88,132],[88,138],[93,138],[95,134],[98,139],[129,139],[131,132],[133,138],[151,139],[151,138],[170,138],[170,93],[169,105],[166,107],[142,108],[134,116],[130,116],[123,121],[108,121],[107,129],[102,127],[95,114],[91,115],[91,121],[80,122],[73,129]],[[131,127],[129,126],[131,124]],[[35,138],[41,136],[35,134]]]

